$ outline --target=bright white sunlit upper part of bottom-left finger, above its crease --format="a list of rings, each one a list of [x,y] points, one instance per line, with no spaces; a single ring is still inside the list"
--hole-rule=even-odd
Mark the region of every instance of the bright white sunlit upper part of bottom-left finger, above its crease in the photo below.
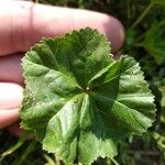
[[[12,82],[0,82],[0,109],[21,108],[23,88]],[[0,116],[1,117],[1,116]]]

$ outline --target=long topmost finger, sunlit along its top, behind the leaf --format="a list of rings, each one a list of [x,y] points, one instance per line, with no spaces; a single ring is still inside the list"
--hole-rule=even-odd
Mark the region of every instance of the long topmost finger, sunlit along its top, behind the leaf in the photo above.
[[[117,52],[124,38],[123,26],[113,16],[33,2],[0,2],[0,55],[28,51],[42,36],[62,35],[90,26],[106,33]]]

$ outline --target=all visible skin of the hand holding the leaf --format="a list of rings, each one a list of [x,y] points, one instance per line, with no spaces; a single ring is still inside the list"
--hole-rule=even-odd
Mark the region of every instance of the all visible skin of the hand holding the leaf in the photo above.
[[[24,87],[21,58],[43,36],[63,35],[90,26],[111,41],[117,53],[124,41],[122,24],[103,13],[35,4],[26,1],[0,2],[0,129],[19,135],[19,110]]]

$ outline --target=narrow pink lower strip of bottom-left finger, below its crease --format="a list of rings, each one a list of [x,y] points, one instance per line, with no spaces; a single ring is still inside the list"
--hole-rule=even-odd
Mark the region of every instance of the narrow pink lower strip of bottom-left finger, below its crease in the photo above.
[[[0,110],[0,129],[3,129],[19,120],[19,109]]]

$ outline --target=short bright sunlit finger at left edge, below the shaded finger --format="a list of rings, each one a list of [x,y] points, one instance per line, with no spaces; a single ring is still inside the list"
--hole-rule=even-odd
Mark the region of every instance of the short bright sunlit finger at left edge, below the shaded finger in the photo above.
[[[21,102],[21,86],[10,82],[0,82],[0,129],[19,120]]]

